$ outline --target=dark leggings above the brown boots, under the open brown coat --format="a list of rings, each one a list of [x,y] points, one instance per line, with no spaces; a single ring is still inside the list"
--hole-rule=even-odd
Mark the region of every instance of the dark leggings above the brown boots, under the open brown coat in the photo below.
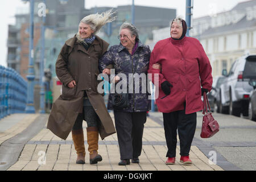
[[[85,120],[87,127],[98,127],[99,118],[92,106],[84,106],[82,113],[77,116],[76,122],[72,130],[82,129],[82,121]]]

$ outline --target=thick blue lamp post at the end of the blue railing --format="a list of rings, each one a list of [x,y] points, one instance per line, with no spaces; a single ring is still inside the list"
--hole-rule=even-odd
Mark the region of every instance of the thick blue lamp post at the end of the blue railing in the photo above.
[[[27,105],[26,113],[35,113],[34,107],[34,0],[22,0],[24,2],[30,1],[30,53],[28,64],[28,88],[27,88]]]

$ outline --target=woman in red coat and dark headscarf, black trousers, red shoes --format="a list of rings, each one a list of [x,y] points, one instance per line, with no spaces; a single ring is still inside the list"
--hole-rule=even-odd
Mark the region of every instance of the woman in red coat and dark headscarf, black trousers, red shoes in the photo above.
[[[168,147],[166,164],[175,164],[177,130],[180,162],[192,164],[189,151],[196,130],[196,112],[203,109],[201,95],[212,89],[212,67],[199,40],[185,36],[185,20],[171,21],[171,38],[156,43],[148,73],[154,82],[158,74],[159,97],[156,105],[163,112]]]

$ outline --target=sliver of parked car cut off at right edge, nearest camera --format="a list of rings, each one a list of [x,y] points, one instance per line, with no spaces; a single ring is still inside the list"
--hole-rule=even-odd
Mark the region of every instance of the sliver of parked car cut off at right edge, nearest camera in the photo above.
[[[253,86],[253,91],[250,94],[248,114],[249,119],[256,121],[256,80],[250,80],[249,85]]]

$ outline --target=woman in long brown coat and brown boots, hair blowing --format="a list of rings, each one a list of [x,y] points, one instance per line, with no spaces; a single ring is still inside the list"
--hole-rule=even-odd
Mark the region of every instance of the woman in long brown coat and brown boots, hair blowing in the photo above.
[[[98,154],[98,134],[102,139],[115,133],[104,99],[97,91],[98,60],[109,44],[96,34],[105,23],[112,22],[112,10],[85,16],[77,34],[68,39],[56,61],[56,75],[63,83],[62,94],[53,104],[47,129],[62,139],[72,131],[77,164],[85,163],[82,121],[87,123],[90,164],[102,160]]]

